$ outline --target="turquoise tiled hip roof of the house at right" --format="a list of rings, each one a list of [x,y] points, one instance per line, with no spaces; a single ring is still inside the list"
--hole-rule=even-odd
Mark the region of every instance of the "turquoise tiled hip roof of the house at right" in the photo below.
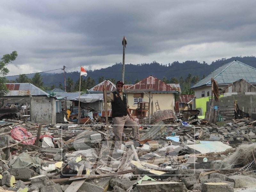
[[[256,84],[256,68],[234,60],[217,68],[191,88],[210,85],[212,77],[218,84],[231,84],[239,79],[244,79],[251,84]]]

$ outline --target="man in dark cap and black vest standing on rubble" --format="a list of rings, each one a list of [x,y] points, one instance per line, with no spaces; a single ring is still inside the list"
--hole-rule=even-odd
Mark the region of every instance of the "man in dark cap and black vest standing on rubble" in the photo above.
[[[107,95],[108,103],[111,102],[112,118],[115,132],[115,148],[120,149],[122,145],[122,133],[124,125],[132,128],[133,140],[140,140],[139,126],[134,121],[129,110],[126,95],[123,92],[124,83],[122,81],[116,82],[116,91]]]

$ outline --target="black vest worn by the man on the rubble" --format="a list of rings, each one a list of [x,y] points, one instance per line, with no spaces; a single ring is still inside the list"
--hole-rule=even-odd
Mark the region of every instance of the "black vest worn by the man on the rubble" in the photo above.
[[[121,117],[121,116],[126,116],[126,102],[127,99],[123,94],[123,100],[121,100],[120,95],[114,91],[112,92],[114,96],[114,102],[111,102],[112,106],[112,117]]]

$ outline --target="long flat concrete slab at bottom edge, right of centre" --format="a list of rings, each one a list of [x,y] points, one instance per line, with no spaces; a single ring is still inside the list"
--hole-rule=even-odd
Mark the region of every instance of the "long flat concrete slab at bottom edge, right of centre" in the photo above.
[[[138,192],[187,192],[188,189],[184,183],[178,182],[153,182],[136,185]]]

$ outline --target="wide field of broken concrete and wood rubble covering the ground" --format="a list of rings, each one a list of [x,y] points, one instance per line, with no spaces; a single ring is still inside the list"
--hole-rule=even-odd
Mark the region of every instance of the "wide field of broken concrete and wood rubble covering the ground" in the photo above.
[[[160,117],[159,117],[160,118]],[[39,125],[5,119],[0,128],[0,192],[227,191],[255,187],[256,121],[215,125],[197,118],[140,119],[140,142],[125,128]]]

